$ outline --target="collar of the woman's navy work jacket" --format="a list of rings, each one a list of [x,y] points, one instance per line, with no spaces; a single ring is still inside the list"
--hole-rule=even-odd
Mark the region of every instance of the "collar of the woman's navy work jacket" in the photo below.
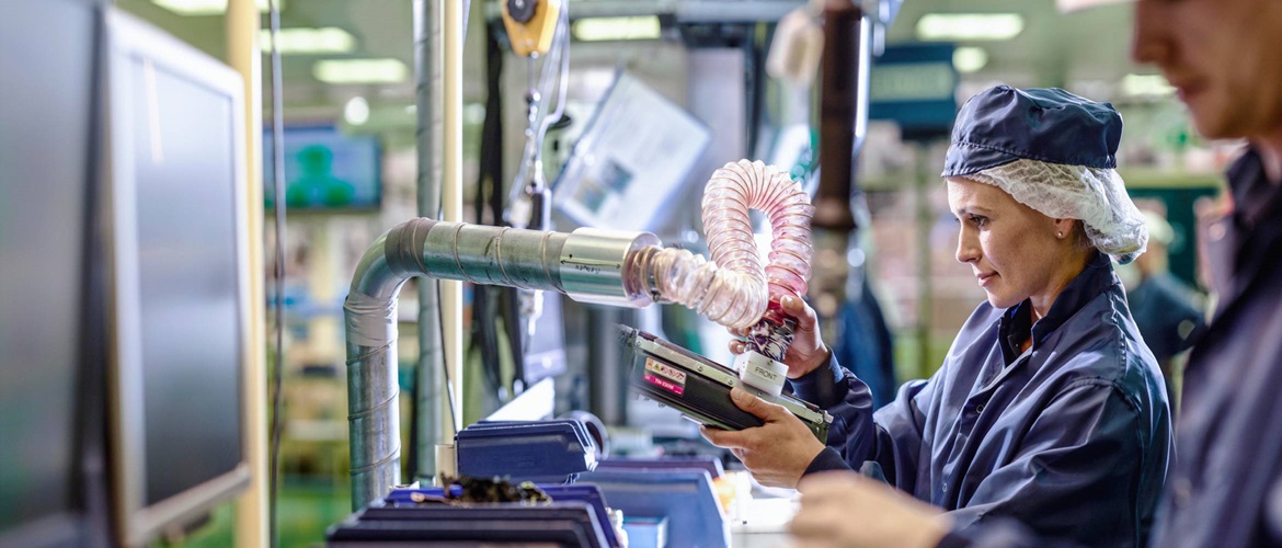
[[[1028,339],[1029,332],[1033,345],[1041,344],[1047,335],[1064,325],[1086,303],[1118,284],[1120,282],[1113,275],[1113,262],[1109,255],[1096,252],[1086,262],[1086,268],[1082,268],[1082,272],[1064,286],[1064,290],[1051,303],[1050,311],[1046,311],[1046,316],[1036,325],[1032,323],[1033,305],[1029,299],[1008,308],[997,322],[997,339],[1001,341],[1001,353],[1006,364],[1019,357],[1019,345]]]

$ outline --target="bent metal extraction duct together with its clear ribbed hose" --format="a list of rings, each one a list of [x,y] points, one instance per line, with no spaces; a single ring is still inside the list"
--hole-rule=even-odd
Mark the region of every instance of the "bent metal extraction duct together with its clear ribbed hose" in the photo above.
[[[770,219],[765,267],[753,244],[749,209]],[[763,341],[754,348],[782,361],[792,330],[776,302],[805,294],[813,212],[809,196],[786,173],[744,160],[714,172],[704,193],[712,262],[662,248],[649,232],[565,234],[428,218],[387,231],[362,257],[344,303],[353,507],[400,484],[396,296],[406,280],[427,276],[559,291],[614,307],[678,303],[726,326],[753,327]]]

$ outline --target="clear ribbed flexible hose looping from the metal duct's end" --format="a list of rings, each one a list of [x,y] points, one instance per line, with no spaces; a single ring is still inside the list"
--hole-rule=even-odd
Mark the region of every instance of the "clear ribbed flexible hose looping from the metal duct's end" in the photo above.
[[[770,222],[773,240],[764,268],[749,209],[764,213]],[[654,249],[640,258],[640,270],[664,300],[685,304],[727,327],[756,326],[781,298],[805,295],[814,253],[813,214],[810,196],[786,172],[762,162],[728,163],[713,173],[704,190],[704,234],[712,262],[683,249]],[[783,316],[777,316],[774,323],[782,326]]]

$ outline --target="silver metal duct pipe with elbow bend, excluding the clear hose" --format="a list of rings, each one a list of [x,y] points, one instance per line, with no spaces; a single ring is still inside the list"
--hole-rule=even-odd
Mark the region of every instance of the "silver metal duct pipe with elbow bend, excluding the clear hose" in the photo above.
[[[396,298],[406,280],[428,276],[560,291],[582,303],[641,308],[654,296],[633,262],[658,245],[649,232],[565,234],[428,218],[379,236],[356,266],[342,307],[353,509],[400,484]]]

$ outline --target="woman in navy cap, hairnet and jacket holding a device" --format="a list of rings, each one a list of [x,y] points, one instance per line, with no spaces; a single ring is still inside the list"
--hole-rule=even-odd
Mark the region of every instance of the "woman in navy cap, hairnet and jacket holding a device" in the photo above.
[[[800,323],[788,377],[833,416],[827,447],[738,389],[735,403],[765,425],[704,436],[763,484],[879,468],[949,511],[954,527],[1001,516],[1087,545],[1140,544],[1167,474],[1170,417],[1110,262],[1133,259],[1147,239],[1114,171],[1120,133],[1111,105],[1063,90],[972,98],[944,177],[960,222],[956,259],[987,302],[942,367],[873,413],[867,386],[818,339],[814,312],[788,299]]]

